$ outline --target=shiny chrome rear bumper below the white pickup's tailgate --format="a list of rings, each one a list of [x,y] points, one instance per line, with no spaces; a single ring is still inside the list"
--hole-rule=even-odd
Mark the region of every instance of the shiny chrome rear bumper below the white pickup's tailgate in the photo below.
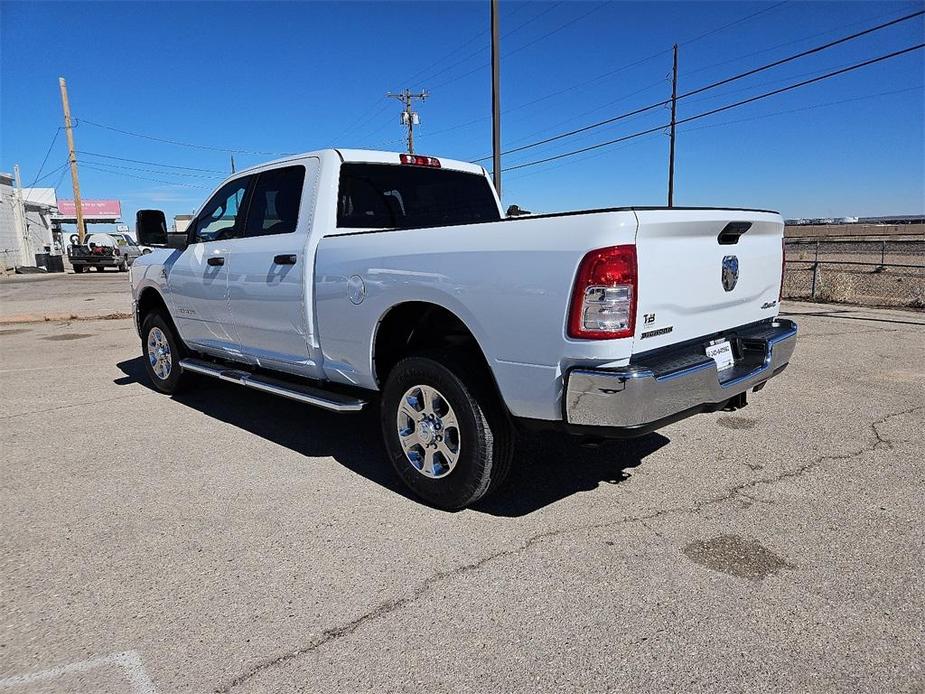
[[[620,369],[573,369],[565,390],[566,422],[645,429],[722,405],[783,369],[796,336],[796,323],[783,318],[729,335],[730,340],[740,341],[745,358],[722,374],[702,350],[682,355],[683,366],[676,369],[672,365],[678,363],[677,355],[662,364],[656,357]]]

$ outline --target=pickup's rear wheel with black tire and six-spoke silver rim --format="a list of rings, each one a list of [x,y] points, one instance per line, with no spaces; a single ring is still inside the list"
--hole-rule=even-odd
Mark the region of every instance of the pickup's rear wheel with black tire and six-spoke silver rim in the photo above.
[[[472,377],[478,373],[449,355],[414,356],[386,379],[380,407],[386,451],[401,480],[437,508],[474,504],[510,469],[513,431],[487,379]]]

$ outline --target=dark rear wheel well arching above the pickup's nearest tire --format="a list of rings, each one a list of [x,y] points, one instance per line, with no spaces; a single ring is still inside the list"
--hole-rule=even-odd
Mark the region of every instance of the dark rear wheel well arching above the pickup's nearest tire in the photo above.
[[[394,306],[379,323],[373,348],[376,381],[381,386],[402,357],[438,348],[465,354],[491,374],[475,336],[455,314],[436,304],[409,301]]]

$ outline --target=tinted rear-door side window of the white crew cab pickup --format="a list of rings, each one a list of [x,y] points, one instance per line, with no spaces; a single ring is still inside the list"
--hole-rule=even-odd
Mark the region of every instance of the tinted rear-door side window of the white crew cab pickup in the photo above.
[[[245,236],[291,234],[299,221],[304,166],[287,166],[257,174],[247,211]]]

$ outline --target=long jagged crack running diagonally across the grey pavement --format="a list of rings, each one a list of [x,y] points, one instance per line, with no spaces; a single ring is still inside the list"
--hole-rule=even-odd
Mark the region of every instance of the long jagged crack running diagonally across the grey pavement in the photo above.
[[[357,629],[359,629],[366,622],[379,619],[380,617],[388,616],[389,614],[397,610],[400,610],[407,605],[410,605],[416,602],[419,598],[422,598],[426,594],[428,594],[435,585],[445,580],[455,578],[457,576],[469,573],[471,571],[477,571],[481,569],[483,566],[490,564],[496,560],[505,559],[507,557],[522,554],[523,552],[530,549],[533,545],[540,543],[544,540],[548,540],[550,538],[558,537],[561,535],[568,535],[571,533],[586,532],[589,530],[601,530],[604,528],[616,527],[618,525],[623,525],[626,523],[639,523],[647,530],[655,533],[657,536],[660,536],[658,531],[652,528],[651,526],[649,526],[646,523],[646,521],[653,520],[655,518],[660,518],[662,516],[666,516],[666,515],[670,515],[674,513],[699,513],[702,509],[706,508],[707,506],[712,506],[715,504],[723,503],[725,501],[729,501],[737,495],[746,496],[742,494],[743,490],[752,489],[754,487],[757,487],[763,484],[776,484],[777,482],[782,482],[783,480],[786,480],[786,479],[792,479],[794,477],[799,477],[801,475],[804,475],[807,472],[810,472],[814,468],[818,467],[824,461],[851,460],[852,458],[856,458],[859,455],[864,455],[865,453],[870,453],[872,451],[875,451],[884,445],[892,447],[893,445],[892,442],[889,439],[884,438],[880,434],[877,427],[885,424],[887,421],[889,421],[893,417],[901,417],[903,415],[911,414],[918,410],[925,410],[925,406],[917,406],[917,407],[909,408],[907,410],[903,410],[902,412],[894,412],[894,413],[885,415],[874,422],[871,422],[870,428],[874,434],[874,439],[875,439],[873,442],[873,445],[864,446],[860,448],[859,450],[851,451],[849,453],[843,453],[839,455],[819,456],[809,461],[805,465],[801,465],[793,470],[786,470],[773,477],[766,477],[762,479],[749,480],[748,482],[743,482],[742,484],[738,484],[738,485],[735,485],[734,487],[731,487],[723,494],[720,494],[720,495],[717,495],[717,496],[714,496],[708,499],[704,499],[702,501],[696,502],[688,506],[675,506],[672,508],[659,509],[657,511],[653,511],[651,513],[643,514],[640,516],[626,516],[626,517],[619,518],[619,519],[602,521],[600,523],[588,523],[588,524],[583,524],[583,525],[558,528],[555,530],[548,530],[546,532],[538,533],[537,535],[533,535],[527,538],[526,540],[521,542],[516,547],[510,548],[510,549],[504,549],[504,550],[495,552],[494,554],[489,554],[485,557],[482,557],[481,559],[477,561],[471,562],[469,564],[463,564],[462,566],[458,566],[454,569],[450,569],[449,571],[439,571],[437,573],[432,574],[429,578],[427,578],[411,594],[406,595],[401,598],[395,598],[392,600],[388,600],[376,606],[369,612],[366,612],[363,615],[356,617],[355,619],[352,619],[349,622],[346,622],[345,624],[332,627],[330,629],[326,629],[325,631],[321,633],[319,637],[313,639],[312,641],[310,641],[309,643],[305,644],[304,646],[300,648],[297,648],[293,651],[289,651],[279,656],[272,656],[270,658],[266,658],[258,662],[257,664],[253,665],[246,672],[229,680],[226,684],[219,686],[214,691],[216,692],[216,694],[227,694],[227,692],[231,691],[235,687],[238,687],[239,685],[244,684],[248,680],[256,677],[260,673],[270,668],[276,667],[277,665],[282,665],[291,660],[295,660],[296,658],[299,658],[303,655],[306,655],[308,653],[311,653],[317,650],[318,648],[320,648],[321,646],[324,646],[325,644],[328,644],[332,641],[336,641],[337,639],[343,638],[345,636],[349,636],[353,634],[355,631],[357,631]],[[758,499],[753,499],[752,497],[748,497],[748,498],[751,499],[752,501],[759,501]]]

